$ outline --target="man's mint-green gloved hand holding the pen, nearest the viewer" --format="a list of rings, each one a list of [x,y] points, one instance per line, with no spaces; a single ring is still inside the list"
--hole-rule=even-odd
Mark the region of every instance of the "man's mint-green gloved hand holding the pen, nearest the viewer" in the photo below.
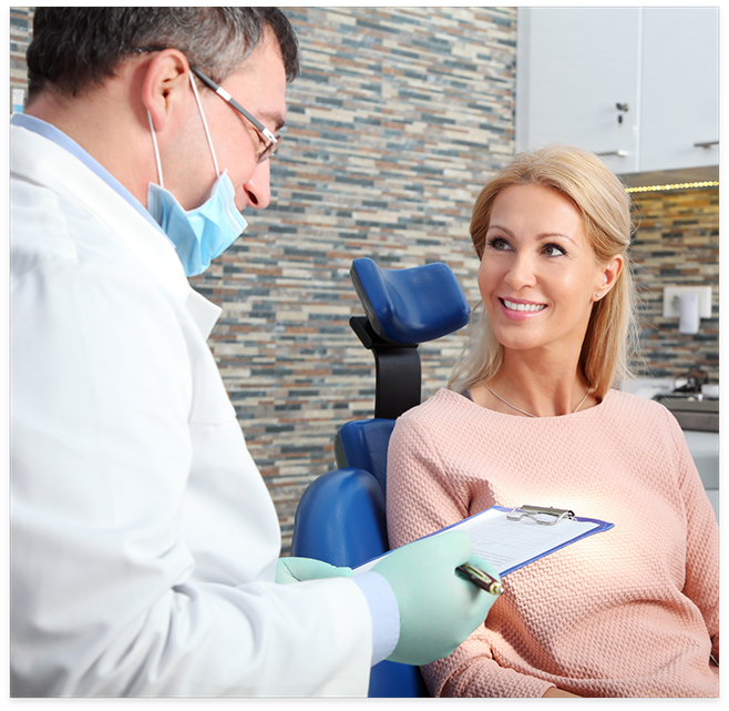
[[[455,568],[468,561],[500,578],[472,549],[466,534],[449,531],[398,548],[372,568],[390,583],[400,609],[400,640],[390,661],[420,666],[448,657],[486,619],[497,597]]]

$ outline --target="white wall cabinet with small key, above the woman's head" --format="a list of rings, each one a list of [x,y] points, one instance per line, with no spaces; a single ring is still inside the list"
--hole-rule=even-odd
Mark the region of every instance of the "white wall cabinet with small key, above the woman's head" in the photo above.
[[[516,149],[561,141],[623,174],[718,166],[718,8],[520,8]],[[620,108],[617,106],[620,104]]]

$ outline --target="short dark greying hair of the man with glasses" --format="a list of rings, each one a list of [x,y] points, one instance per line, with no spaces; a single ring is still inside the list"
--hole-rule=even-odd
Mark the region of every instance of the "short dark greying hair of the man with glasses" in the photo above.
[[[113,77],[137,48],[179,50],[217,83],[248,58],[269,27],[278,40],[286,80],[299,72],[298,39],[286,16],[265,8],[39,7],[28,48],[28,100],[52,89],[83,93]]]

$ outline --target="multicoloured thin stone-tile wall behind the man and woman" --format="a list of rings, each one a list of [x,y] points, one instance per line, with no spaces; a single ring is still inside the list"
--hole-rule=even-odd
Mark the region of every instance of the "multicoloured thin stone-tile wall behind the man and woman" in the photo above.
[[[213,353],[276,502],[287,550],[305,487],[333,468],[333,435],[369,417],[373,359],[351,261],[446,262],[472,303],[473,201],[514,151],[515,8],[284,8],[304,71],[288,90],[271,206],[195,288],[223,306]],[[32,8],[11,8],[11,85],[24,82]],[[718,378],[718,190],[635,196],[643,372]],[[711,283],[697,336],[661,317],[663,286]],[[421,346],[423,397],[445,384],[465,329]]]

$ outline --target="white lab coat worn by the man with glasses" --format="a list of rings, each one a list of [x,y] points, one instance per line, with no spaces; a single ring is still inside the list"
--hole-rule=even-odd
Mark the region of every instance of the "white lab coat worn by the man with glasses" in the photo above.
[[[364,596],[280,534],[168,241],[11,126],[11,693],[366,695]]]

